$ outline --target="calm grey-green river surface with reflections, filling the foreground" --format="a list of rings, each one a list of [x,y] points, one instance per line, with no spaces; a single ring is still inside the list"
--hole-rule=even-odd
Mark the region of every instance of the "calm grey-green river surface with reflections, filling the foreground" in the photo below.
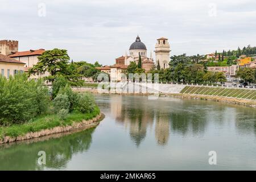
[[[97,95],[96,128],[0,145],[0,170],[256,170],[256,109],[200,100]],[[46,165],[38,152],[46,152]],[[209,151],[217,164],[209,165]]]

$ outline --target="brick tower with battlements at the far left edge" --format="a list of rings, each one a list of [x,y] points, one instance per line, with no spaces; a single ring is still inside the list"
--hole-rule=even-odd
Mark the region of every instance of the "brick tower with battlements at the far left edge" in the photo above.
[[[9,56],[11,53],[18,52],[18,41],[0,40],[0,53]]]

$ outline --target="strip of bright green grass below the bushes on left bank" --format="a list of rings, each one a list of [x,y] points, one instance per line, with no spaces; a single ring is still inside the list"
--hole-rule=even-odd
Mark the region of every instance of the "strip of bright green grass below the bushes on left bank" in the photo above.
[[[52,129],[56,126],[70,126],[74,122],[81,122],[83,119],[92,119],[98,114],[100,114],[100,109],[96,107],[96,109],[92,113],[82,114],[79,111],[69,113],[67,118],[63,121],[61,121],[61,119],[57,117],[56,114],[44,115],[31,119],[29,122],[26,123],[0,127],[0,138],[2,139],[6,136],[18,137],[20,135],[25,135],[30,132]]]

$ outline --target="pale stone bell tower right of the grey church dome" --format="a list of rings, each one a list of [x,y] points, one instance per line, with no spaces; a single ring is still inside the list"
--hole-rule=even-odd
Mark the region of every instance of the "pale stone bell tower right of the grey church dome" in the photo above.
[[[155,44],[155,64],[158,65],[158,61],[160,64],[160,68],[166,69],[169,67],[170,62],[170,44],[168,43],[168,39],[160,38],[157,39]]]

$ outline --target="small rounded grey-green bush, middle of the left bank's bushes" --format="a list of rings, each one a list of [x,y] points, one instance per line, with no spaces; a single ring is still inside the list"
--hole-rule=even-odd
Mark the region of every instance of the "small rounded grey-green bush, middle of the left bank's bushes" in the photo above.
[[[55,113],[59,113],[61,109],[66,109],[69,112],[70,102],[68,100],[67,94],[57,94],[53,100],[53,108]]]

